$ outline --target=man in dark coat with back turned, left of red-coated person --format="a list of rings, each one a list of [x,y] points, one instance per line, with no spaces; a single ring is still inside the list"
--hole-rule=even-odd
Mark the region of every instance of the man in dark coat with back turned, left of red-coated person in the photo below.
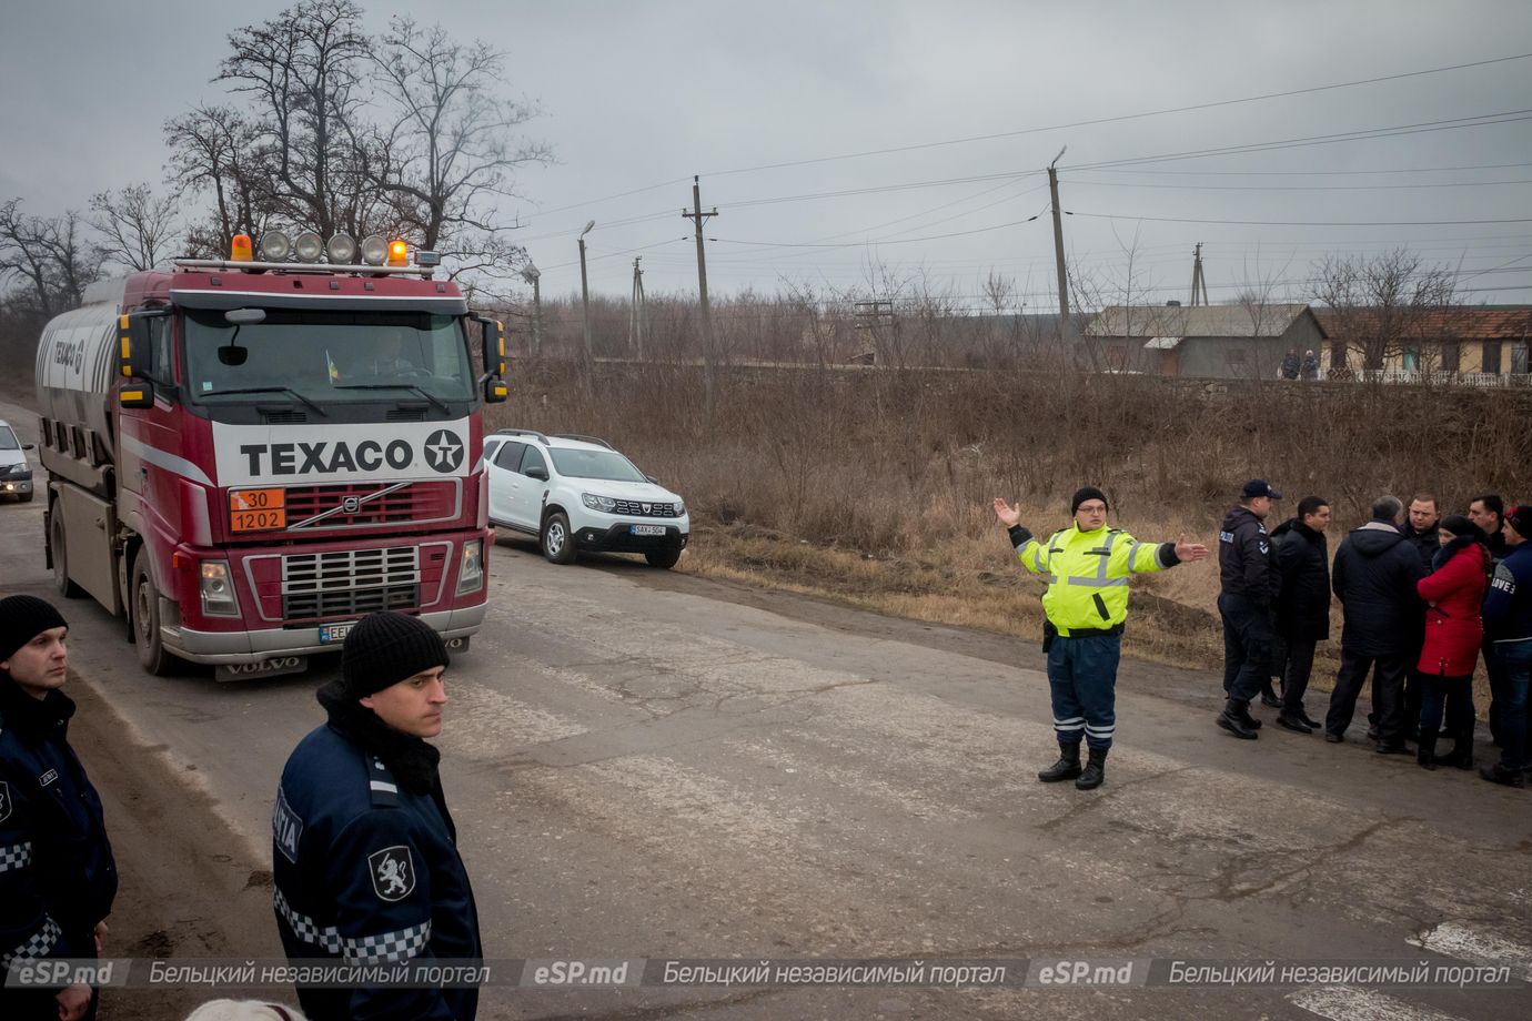
[[[1336,551],[1331,588],[1345,609],[1340,631],[1340,672],[1330,693],[1325,741],[1342,741],[1351,726],[1367,675],[1373,677],[1377,750],[1403,755],[1405,674],[1413,666],[1411,621],[1419,612],[1416,582],[1425,568],[1399,525],[1405,505],[1394,496],[1373,504],[1373,519],[1351,531]]]

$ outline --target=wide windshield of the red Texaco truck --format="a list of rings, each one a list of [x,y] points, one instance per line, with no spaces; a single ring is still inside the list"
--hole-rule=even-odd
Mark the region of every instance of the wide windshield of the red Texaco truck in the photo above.
[[[185,351],[187,387],[207,403],[248,401],[256,392],[320,404],[395,392],[411,401],[473,398],[467,337],[453,315],[267,309],[265,321],[236,335],[222,312],[187,309]]]

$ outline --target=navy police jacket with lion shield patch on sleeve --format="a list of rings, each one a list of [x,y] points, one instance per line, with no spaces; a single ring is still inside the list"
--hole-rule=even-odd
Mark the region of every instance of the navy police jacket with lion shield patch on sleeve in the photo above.
[[[273,899],[288,958],[483,958],[440,781],[432,775],[429,793],[406,790],[336,719],[332,710],[294,749],[273,810]],[[478,989],[300,987],[299,1001],[311,1018],[463,1019]]]

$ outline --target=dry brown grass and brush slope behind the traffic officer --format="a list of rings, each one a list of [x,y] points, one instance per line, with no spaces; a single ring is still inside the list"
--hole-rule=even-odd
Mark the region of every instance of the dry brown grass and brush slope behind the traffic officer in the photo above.
[[[1521,392],[1359,384],[1196,384],[1020,370],[734,369],[709,416],[685,364],[522,366],[495,424],[614,439],[683,493],[696,522],[686,571],[810,592],[918,620],[1037,635],[1042,586],[1011,562],[994,496],[1034,531],[1068,524],[1086,482],[1112,524],[1144,540],[1215,546],[1238,485],[1264,476],[1290,513],[1318,493],[1336,511],[1331,550],[1393,491],[1452,510],[1515,494],[1532,442],[1511,427]],[[1275,522],[1273,522],[1275,524]],[[1218,569],[1146,576],[1128,649],[1216,669]],[[1339,611],[1334,638],[1339,638]],[[1334,674],[1321,646],[1316,684]]]

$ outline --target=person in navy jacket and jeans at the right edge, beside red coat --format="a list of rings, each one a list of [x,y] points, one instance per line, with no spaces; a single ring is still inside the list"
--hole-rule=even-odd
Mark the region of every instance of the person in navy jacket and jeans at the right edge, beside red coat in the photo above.
[[[1480,776],[1507,787],[1526,787],[1527,686],[1532,683],[1532,507],[1504,516],[1506,559],[1485,597],[1485,632],[1500,664],[1491,675],[1500,707],[1500,761]]]

